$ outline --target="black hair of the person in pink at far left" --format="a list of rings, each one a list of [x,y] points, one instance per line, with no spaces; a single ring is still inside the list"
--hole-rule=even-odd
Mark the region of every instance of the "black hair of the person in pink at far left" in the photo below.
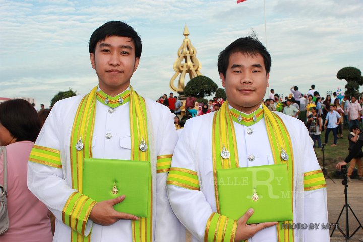
[[[13,99],[0,104],[0,124],[18,141],[35,142],[41,124],[32,104],[23,99]]]

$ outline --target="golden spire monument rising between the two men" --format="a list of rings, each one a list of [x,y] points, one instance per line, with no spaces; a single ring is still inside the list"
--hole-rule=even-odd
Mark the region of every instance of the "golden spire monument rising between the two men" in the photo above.
[[[186,73],[189,74],[189,78],[192,79],[196,76],[201,76],[202,73],[199,72],[202,65],[200,64],[198,58],[196,57],[197,51],[193,47],[190,39],[188,38],[189,31],[187,25],[184,26],[183,35],[185,38],[183,39],[183,43],[178,49],[178,57],[174,62],[174,70],[175,74],[172,76],[170,80],[170,88],[171,90],[178,92],[179,94],[184,91],[184,78]],[[180,76],[179,76],[180,74]],[[175,79],[179,76],[177,87],[174,85]]]

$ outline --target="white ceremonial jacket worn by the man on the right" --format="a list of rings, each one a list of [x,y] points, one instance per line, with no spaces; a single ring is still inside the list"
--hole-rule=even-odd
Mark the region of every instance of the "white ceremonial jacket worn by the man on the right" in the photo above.
[[[283,120],[292,140],[294,191],[297,191],[293,202],[294,223],[326,224],[328,223],[326,188],[303,191],[304,173],[320,170],[309,140],[309,133],[300,120],[280,112],[276,113]],[[171,207],[181,223],[192,233],[192,241],[205,241],[207,220],[213,212],[217,211],[212,161],[213,115],[214,113],[208,113],[188,120],[176,144],[171,163],[171,168],[180,167],[195,171],[198,176],[199,190],[167,185]],[[248,127],[236,122],[233,124],[239,167],[273,165],[274,160],[264,118]],[[247,132],[248,129],[252,129],[252,133],[251,130]],[[250,155],[254,156],[252,161],[248,159]],[[294,237],[294,241],[325,242],[329,241],[329,230],[322,230],[320,227],[318,230],[296,229]],[[259,231],[248,241],[278,241],[276,226]]]

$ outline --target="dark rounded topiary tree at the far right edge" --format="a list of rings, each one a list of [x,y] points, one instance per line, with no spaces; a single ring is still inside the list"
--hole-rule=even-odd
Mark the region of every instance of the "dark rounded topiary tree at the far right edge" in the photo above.
[[[344,67],[337,73],[337,78],[342,80],[345,79],[347,84],[345,88],[345,95],[359,97],[359,86],[363,85],[363,77],[361,76],[361,71],[355,67]]]

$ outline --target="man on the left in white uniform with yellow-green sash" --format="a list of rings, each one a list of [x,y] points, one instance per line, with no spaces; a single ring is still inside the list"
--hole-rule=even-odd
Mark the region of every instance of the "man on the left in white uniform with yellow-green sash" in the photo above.
[[[86,95],[56,102],[40,131],[28,162],[28,187],[56,217],[54,241],[185,241],[166,194],[177,142],[172,114],[130,85],[141,50],[139,35],[123,22],[110,21],[96,29],[89,53],[98,85]],[[110,171],[115,169],[113,159],[127,160],[134,169],[132,162],[147,164],[146,173],[140,173],[149,177],[140,181],[147,195],[135,208],[146,206],[146,216],[114,209],[132,194],[118,191],[117,186],[124,185],[110,174],[99,175],[104,177],[99,187],[117,197],[96,202],[86,196],[85,158],[102,159],[108,164],[103,170]]]

